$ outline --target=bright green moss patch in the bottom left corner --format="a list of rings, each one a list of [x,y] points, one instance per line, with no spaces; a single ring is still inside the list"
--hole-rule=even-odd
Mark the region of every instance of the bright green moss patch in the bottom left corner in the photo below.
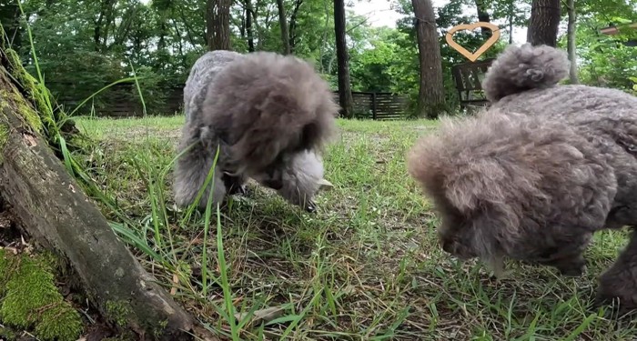
[[[0,250],[0,320],[33,329],[42,340],[73,341],[82,332],[77,311],[57,292],[50,259]]]

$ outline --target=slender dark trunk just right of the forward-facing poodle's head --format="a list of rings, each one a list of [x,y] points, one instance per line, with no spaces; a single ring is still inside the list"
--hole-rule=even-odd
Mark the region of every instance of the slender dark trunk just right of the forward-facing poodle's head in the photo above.
[[[349,82],[349,56],[345,35],[345,1],[334,0],[334,32],[336,34],[336,55],[339,64],[339,105],[340,115],[354,116],[354,99]]]

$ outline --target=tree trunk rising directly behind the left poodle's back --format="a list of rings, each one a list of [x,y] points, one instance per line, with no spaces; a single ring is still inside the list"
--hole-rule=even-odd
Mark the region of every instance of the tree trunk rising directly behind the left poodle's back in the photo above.
[[[231,50],[230,6],[232,0],[207,0],[208,50]]]

